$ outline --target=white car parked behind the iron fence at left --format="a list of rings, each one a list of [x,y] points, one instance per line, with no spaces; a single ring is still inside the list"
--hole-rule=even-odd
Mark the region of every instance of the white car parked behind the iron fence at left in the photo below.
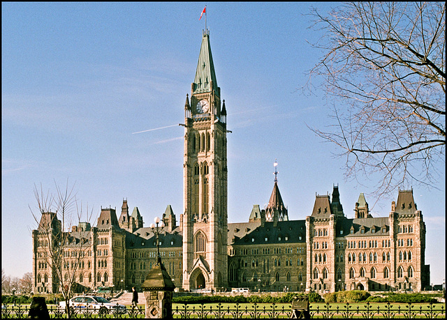
[[[125,305],[118,305],[117,303],[111,303],[109,300],[100,296],[75,296],[68,300],[68,305],[75,310],[88,310],[97,311],[100,317],[110,312],[116,312],[124,314],[127,312]],[[59,302],[59,307],[65,309],[65,301]]]

